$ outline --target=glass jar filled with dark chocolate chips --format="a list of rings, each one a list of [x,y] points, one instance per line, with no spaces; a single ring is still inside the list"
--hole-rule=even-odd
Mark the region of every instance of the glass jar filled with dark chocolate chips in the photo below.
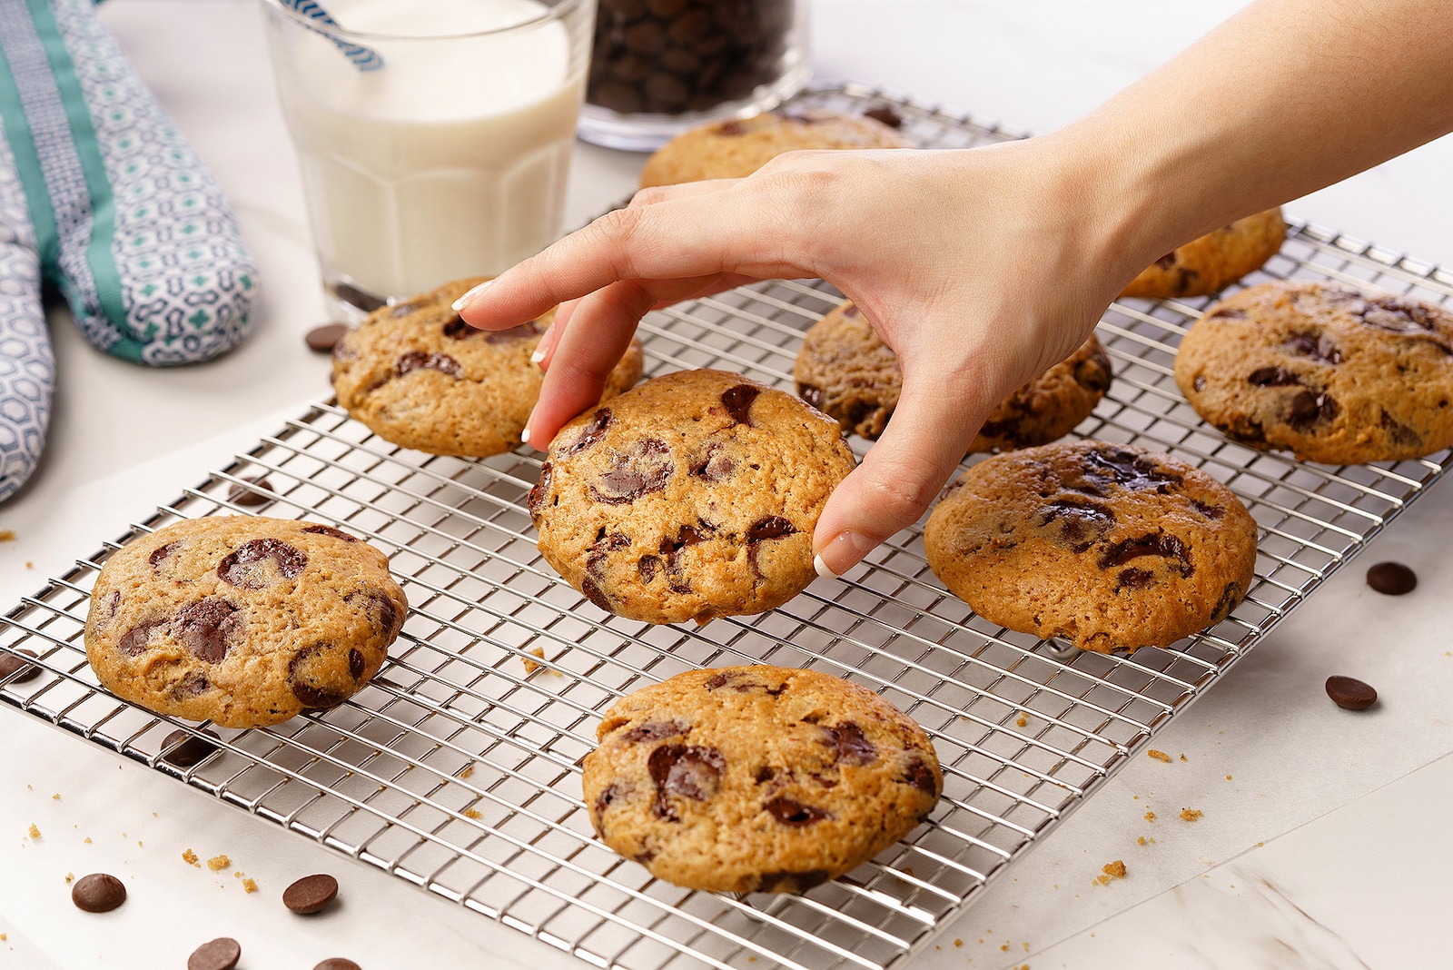
[[[811,77],[808,0],[597,0],[578,135],[651,151],[772,110]]]

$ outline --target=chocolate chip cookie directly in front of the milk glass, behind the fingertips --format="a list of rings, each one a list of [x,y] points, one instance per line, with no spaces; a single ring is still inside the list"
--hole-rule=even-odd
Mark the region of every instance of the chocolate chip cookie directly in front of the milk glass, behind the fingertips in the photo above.
[[[432,455],[484,457],[520,444],[543,372],[530,354],[554,318],[477,330],[450,303],[481,279],[381,306],[333,347],[339,404],[379,437]],[[635,340],[610,372],[610,398],[641,379]]]

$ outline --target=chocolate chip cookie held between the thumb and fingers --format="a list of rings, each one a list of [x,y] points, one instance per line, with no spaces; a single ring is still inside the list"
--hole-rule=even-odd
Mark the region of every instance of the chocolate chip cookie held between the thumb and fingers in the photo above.
[[[817,576],[812,529],[851,470],[837,423],[793,395],[681,370],[561,428],[529,508],[541,553],[602,610],[706,623]]]

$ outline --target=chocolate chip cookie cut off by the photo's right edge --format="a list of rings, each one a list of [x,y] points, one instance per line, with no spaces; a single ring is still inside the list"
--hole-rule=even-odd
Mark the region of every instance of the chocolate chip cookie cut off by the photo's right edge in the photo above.
[[[1196,412],[1257,449],[1351,465],[1453,444],[1453,312],[1322,282],[1207,306],[1175,354]]]

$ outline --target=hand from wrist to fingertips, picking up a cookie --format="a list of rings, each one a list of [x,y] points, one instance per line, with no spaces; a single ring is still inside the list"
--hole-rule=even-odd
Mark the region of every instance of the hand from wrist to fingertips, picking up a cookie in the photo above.
[[[647,311],[760,279],[837,286],[904,373],[888,430],[818,520],[818,571],[841,575],[923,514],[989,411],[1069,356],[1154,258],[1106,231],[1080,166],[1053,138],[792,152],[747,179],[644,190],[461,312],[495,330],[561,305],[527,427],[542,446],[599,401]]]

